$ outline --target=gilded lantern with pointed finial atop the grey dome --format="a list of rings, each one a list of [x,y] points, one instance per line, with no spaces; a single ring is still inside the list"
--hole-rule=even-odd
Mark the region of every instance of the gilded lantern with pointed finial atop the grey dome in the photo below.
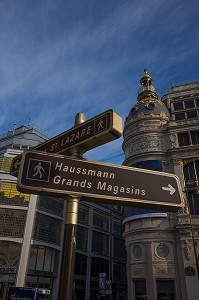
[[[140,79],[141,88],[138,90],[138,101],[156,101],[158,95],[155,87],[152,85],[152,77],[144,69],[144,75]]]

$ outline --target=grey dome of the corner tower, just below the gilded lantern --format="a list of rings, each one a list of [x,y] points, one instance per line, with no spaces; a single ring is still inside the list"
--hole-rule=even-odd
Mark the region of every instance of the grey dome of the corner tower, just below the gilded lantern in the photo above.
[[[143,101],[135,104],[127,117],[126,121],[131,119],[136,119],[139,117],[144,117],[147,115],[157,115],[162,117],[170,117],[167,107],[160,101]]]

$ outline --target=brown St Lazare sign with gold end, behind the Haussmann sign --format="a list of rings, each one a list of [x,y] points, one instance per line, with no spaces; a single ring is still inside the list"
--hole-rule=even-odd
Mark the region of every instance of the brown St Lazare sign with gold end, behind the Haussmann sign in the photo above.
[[[86,152],[119,138],[121,134],[122,118],[110,109],[34,147],[34,150],[70,155],[74,147],[79,146]],[[18,175],[21,157],[22,154],[13,158],[11,175]]]

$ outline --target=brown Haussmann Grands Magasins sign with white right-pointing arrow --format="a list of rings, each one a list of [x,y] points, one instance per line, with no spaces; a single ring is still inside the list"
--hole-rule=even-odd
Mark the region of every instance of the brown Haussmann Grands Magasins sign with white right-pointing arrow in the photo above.
[[[173,174],[29,150],[22,157],[18,189],[165,211],[177,211],[183,203],[178,177]]]

